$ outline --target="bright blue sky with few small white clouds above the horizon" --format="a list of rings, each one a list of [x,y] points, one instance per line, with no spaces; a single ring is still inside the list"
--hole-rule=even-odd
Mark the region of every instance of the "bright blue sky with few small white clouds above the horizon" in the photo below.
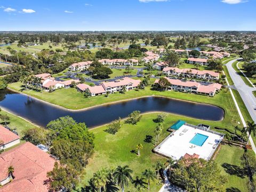
[[[256,30],[255,0],[0,0],[0,30]]]

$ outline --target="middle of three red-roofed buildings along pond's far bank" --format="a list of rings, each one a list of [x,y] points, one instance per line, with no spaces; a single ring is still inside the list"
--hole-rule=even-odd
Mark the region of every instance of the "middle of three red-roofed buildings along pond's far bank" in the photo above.
[[[79,91],[86,91],[88,90],[90,92],[90,96],[94,97],[101,94],[108,93],[114,93],[118,91],[122,91],[123,87],[125,87],[126,91],[135,89],[139,86],[140,80],[135,80],[129,77],[124,77],[123,79],[119,79],[117,81],[112,82],[104,82],[101,85],[98,86],[90,86],[86,84],[78,84],[77,89]]]

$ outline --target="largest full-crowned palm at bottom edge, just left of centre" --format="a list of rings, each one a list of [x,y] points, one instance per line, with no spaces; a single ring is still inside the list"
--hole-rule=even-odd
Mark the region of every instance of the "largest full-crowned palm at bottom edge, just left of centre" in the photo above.
[[[132,181],[132,172],[128,165],[123,167],[119,165],[113,173],[115,182],[122,188],[123,192],[124,187],[129,185],[129,181]]]

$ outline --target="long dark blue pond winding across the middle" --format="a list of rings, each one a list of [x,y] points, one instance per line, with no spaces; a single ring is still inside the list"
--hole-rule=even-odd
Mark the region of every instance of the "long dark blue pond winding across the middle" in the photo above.
[[[224,116],[223,109],[217,106],[162,97],[146,97],[88,110],[70,111],[10,90],[0,91],[0,107],[41,126],[69,115],[77,122],[84,122],[88,127],[94,127],[114,121],[118,117],[127,117],[134,110],[140,110],[141,113],[164,111],[211,121],[219,121]]]

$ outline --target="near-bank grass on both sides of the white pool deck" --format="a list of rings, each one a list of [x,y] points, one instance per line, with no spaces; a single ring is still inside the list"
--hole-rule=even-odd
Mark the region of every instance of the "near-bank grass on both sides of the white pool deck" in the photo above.
[[[90,160],[89,165],[86,166],[86,174],[81,186],[87,185],[87,182],[92,178],[93,173],[105,167],[108,169],[114,169],[118,165],[129,165],[129,167],[134,171],[133,178],[135,178],[138,175],[140,176],[141,172],[145,169],[150,169],[157,160],[165,163],[167,160],[166,158],[154,154],[151,151],[155,144],[154,129],[157,124],[154,123],[153,119],[156,118],[156,115],[157,113],[142,115],[141,121],[134,126],[123,123],[121,130],[117,132],[116,135],[105,132],[104,130],[107,129],[107,126],[100,126],[91,130],[95,135],[95,154]],[[194,125],[199,123],[209,123],[199,119],[167,114],[163,133],[159,138],[159,142],[169,134],[166,130],[173,123],[178,121],[178,119],[182,119]],[[134,137],[134,135],[136,135],[136,137]],[[151,142],[145,140],[146,137],[152,137]],[[140,151],[140,156],[131,152],[132,150],[135,150],[138,143],[143,145],[143,149]],[[233,165],[241,167],[240,157],[242,154],[243,150],[238,148],[221,146],[215,161],[219,165],[222,174],[227,176],[228,182],[226,187],[235,187],[246,192],[246,182],[248,179],[246,177],[240,178],[236,175],[229,174],[222,167],[223,165],[230,165],[230,167],[228,166],[228,169],[231,169]],[[162,183],[159,185],[159,182],[155,180],[154,182],[151,182],[150,191],[158,191],[161,186]],[[135,191],[131,183],[129,188],[126,188],[126,191],[129,190]]]

